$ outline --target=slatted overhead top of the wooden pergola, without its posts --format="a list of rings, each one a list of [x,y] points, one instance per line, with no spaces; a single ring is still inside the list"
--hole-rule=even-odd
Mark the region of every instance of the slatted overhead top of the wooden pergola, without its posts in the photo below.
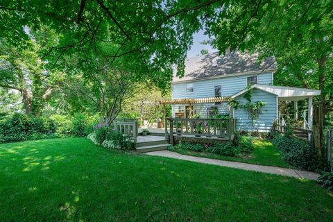
[[[169,100],[158,100],[158,101],[141,101],[140,105],[218,103],[225,101],[230,101],[230,96],[208,97],[208,98],[197,98],[197,99],[169,99]]]

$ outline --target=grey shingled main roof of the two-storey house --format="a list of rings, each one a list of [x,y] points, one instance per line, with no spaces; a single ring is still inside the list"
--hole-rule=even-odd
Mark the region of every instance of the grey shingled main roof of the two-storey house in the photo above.
[[[214,63],[216,62],[216,65]],[[263,60],[258,65],[258,54],[241,53],[239,51],[225,52],[219,56],[218,52],[209,53],[205,56],[187,58],[185,62],[185,76],[176,76],[177,70],[173,74],[173,83],[189,80],[200,80],[203,78],[223,77],[232,74],[253,74],[262,71],[272,71],[278,68],[273,57]]]

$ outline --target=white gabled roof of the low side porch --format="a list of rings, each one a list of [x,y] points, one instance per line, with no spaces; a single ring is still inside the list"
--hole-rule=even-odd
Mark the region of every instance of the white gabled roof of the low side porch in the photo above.
[[[245,92],[248,92],[248,90],[250,89],[261,89],[265,92],[275,94],[278,96],[278,99],[280,101],[295,101],[295,100],[298,101],[300,99],[307,99],[321,94],[321,90],[318,89],[305,89],[298,87],[255,84],[237,92],[237,94],[232,95],[231,98],[234,99],[237,96],[241,96]]]

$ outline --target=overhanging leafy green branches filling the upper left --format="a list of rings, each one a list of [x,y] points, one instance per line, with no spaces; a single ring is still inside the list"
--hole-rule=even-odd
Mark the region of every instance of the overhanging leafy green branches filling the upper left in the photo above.
[[[50,64],[59,65],[65,54],[95,53],[101,45],[108,46],[104,53],[110,65],[126,58],[126,72],[140,70],[165,88],[175,65],[178,74],[183,74],[192,34],[201,27],[200,17],[217,2],[4,1],[0,5],[0,35],[17,44],[18,37],[27,39],[23,27],[35,31],[48,26],[61,34],[59,41],[41,54]]]

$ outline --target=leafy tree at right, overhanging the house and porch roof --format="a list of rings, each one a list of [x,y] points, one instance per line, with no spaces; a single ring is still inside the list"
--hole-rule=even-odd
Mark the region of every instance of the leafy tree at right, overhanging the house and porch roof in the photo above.
[[[275,56],[282,85],[322,90],[314,103],[314,142],[323,155],[323,119],[333,108],[333,2],[327,0],[230,1],[205,26],[213,46]],[[269,67],[267,67],[269,68]]]

